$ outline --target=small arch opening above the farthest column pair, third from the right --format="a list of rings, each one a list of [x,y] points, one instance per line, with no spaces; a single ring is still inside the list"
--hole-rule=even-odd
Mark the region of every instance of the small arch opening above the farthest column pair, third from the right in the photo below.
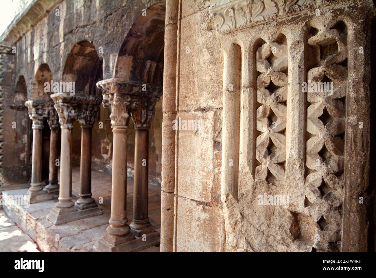
[[[50,101],[52,90],[45,90],[45,83],[50,84],[51,80],[53,79],[50,67],[46,63],[41,64],[34,75],[31,99]]]

